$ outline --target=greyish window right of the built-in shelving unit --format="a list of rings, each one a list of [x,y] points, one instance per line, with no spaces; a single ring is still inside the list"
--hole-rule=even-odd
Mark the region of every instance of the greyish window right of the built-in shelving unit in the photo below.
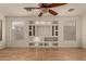
[[[76,40],[76,26],[63,27],[64,40]]]

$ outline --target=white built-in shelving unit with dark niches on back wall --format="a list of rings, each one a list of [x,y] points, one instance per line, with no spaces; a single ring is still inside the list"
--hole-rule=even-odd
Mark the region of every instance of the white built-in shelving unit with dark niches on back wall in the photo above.
[[[28,22],[29,47],[58,47],[58,22]]]

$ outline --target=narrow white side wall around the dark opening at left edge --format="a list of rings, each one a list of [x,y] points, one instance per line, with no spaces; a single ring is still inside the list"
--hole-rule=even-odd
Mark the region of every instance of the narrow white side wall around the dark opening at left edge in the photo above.
[[[2,20],[2,41],[0,41],[0,49],[5,48],[5,17],[0,14],[0,20]]]

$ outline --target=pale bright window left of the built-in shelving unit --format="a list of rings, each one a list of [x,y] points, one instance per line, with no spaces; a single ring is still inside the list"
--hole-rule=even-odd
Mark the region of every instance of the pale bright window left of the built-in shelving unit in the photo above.
[[[22,40],[24,39],[24,23],[12,22],[12,39]]]

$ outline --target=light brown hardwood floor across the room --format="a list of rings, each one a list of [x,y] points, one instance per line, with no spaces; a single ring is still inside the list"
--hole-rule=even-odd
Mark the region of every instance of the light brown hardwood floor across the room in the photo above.
[[[0,50],[1,61],[86,61],[81,48],[7,48]]]

